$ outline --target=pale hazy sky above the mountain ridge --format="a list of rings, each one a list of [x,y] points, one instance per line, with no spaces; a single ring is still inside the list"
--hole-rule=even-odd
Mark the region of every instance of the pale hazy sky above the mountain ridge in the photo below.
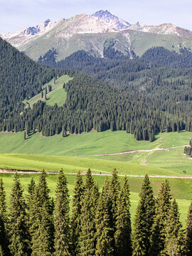
[[[0,33],[58,21],[76,14],[108,10],[119,18],[147,25],[173,23],[192,31],[191,0],[0,0]]]

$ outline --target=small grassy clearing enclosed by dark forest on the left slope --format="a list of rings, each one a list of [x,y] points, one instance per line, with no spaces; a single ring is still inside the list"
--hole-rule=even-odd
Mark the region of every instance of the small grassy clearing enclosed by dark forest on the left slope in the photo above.
[[[23,103],[25,104],[25,107],[28,107],[28,104],[32,107],[34,103],[36,103],[38,100],[46,101],[47,105],[53,106],[55,103],[60,107],[65,103],[67,92],[63,89],[63,83],[68,82],[69,80],[72,80],[73,78],[70,78],[68,75],[62,75],[60,78],[55,80],[50,80],[50,82],[47,82],[45,85],[43,85],[43,99],[41,98],[41,92],[38,93],[38,95],[35,95],[29,100],[24,100]],[[52,90],[48,92],[48,85],[51,85]],[[47,88],[47,100],[45,100],[45,93]]]

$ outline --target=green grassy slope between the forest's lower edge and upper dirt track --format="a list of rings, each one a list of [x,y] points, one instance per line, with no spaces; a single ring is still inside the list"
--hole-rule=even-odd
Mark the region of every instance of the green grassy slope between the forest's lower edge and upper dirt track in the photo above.
[[[127,134],[125,131],[111,132],[107,130],[105,132],[92,131],[79,135],[71,134],[65,138],[61,134],[53,137],[43,137],[41,134],[36,133],[24,141],[23,132],[1,132],[0,153],[87,156],[129,150],[182,146],[188,144],[191,137],[191,132],[164,132],[157,134],[154,142],[144,142],[137,141],[132,134]]]

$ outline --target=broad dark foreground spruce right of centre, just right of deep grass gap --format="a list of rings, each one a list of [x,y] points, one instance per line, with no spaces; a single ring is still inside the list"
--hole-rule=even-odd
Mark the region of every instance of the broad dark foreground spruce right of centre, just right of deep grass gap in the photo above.
[[[133,225],[133,256],[148,256],[151,227],[154,220],[155,200],[149,177],[146,175],[139,193],[139,203]]]

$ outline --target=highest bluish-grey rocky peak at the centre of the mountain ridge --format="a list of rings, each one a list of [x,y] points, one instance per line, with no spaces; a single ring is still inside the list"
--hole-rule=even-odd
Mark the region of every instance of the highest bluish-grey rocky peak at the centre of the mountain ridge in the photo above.
[[[95,14],[92,14],[92,17],[97,18],[98,21],[105,23],[111,28],[116,28],[118,31],[124,30],[131,26],[127,21],[122,20],[110,13],[110,11],[97,11]]]

